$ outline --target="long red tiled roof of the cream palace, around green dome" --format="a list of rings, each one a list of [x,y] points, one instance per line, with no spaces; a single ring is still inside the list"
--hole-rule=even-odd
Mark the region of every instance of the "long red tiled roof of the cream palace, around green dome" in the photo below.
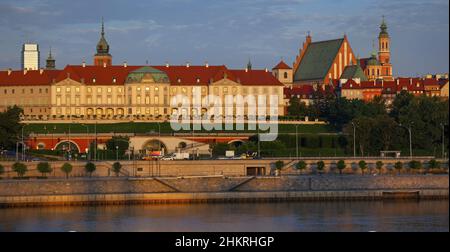
[[[143,66],[68,65],[63,70],[0,72],[0,85],[49,85],[67,78],[86,85],[123,85],[130,72]],[[209,85],[224,78],[242,85],[283,86],[265,70],[230,70],[226,66],[152,66],[169,77],[171,85]],[[95,80],[95,81],[94,81]],[[114,81],[115,80],[115,81]]]

